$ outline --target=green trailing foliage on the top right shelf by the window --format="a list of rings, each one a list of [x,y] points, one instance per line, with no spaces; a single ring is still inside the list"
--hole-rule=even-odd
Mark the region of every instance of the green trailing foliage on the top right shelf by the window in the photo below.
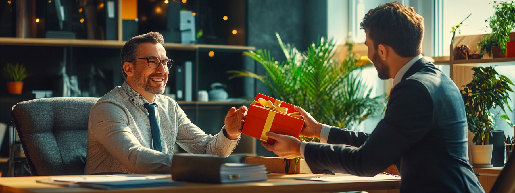
[[[501,46],[506,53],[506,42],[509,42],[509,33],[515,28],[515,3],[494,1],[495,13],[485,22],[492,28],[492,33],[485,36],[484,40],[477,44],[482,54],[491,55],[491,46]]]

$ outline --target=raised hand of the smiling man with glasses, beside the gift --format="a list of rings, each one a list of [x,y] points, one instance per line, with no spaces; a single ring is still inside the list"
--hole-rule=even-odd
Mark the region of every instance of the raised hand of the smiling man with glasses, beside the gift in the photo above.
[[[234,107],[229,110],[224,121],[226,125],[227,138],[234,140],[242,133],[243,124],[247,117],[247,111],[248,109],[245,106],[239,107],[238,110]]]

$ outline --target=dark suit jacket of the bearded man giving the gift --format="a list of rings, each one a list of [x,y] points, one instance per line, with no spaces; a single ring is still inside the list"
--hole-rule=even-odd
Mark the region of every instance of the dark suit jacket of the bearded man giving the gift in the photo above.
[[[308,143],[304,156],[313,173],[375,176],[396,164],[401,192],[484,192],[469,165],[467,132],[458,88],[420,59],[393,88],[371,134],[332,127],[328,144]]]

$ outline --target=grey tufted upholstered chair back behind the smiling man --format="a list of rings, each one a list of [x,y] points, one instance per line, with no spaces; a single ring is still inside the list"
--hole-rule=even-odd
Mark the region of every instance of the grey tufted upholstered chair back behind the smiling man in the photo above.
[[[32,176],[84,173],[88,119],[98,99],[41,98],[14,106],[13,124]]]

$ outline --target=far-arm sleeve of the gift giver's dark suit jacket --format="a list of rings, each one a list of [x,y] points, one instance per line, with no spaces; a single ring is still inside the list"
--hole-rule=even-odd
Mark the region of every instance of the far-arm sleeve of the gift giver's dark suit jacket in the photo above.
[[[332,127],[327,139],[328,144],[344,144],[354,147],[362,146],[370,133],[349,131],[345,128]]]

